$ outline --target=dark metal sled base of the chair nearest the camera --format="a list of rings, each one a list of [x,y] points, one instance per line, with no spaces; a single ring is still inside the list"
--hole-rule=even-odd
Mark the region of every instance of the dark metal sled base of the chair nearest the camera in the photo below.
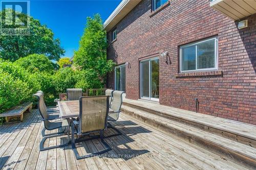
[[[103,130],[102,130],[102,131],[100,131],[100,140],[105,145],[106,149],[103,150],[103,151],[96,152],[96,153],[91,153],[89,155],[79,155],[78,152],[77,152],[76,144],[75,143],[78,142],[78,141],[81,141],[81,140],[75,140],[75,134],[74,134],[74,131],[73,131],[73,130],[75,130],[74,125],[72,124],[71,127],[72,127],[71,128],[72,129],[72,139],[71,139],[71,141],[72,141],[72,149],[73,149],[73,152],[75,154],[76,159],[90,158],[90,157],[97,156],[97,155],[100,155],[100,154],[103,154],[105,152],[108,152],[108,151],[112,150],[110,145],[104,141]],[[86,140],[89,140],[89,139],[86,139]]]

